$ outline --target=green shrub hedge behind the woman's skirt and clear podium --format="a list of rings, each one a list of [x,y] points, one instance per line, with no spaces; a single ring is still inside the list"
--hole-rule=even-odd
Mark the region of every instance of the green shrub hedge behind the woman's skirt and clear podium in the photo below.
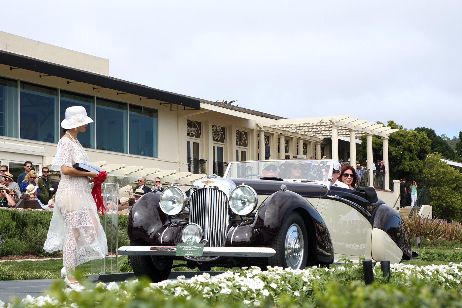
[[[35,254],[43,257],[59,254],[58,251],[47,253],[43,250],[52,215],[52,211],[0,209],[0,254]],[[103,224],[103,215],[100,214],[99,217]],[[127,234],[127,219],[127,215],[118,216],[119,247],[128,246],[130,243]],[[107,223],[111,222],[106,221]],[[108,238],[108,244],[110,241],[111,238]],[[112,250],[116,252],[116,247]]]

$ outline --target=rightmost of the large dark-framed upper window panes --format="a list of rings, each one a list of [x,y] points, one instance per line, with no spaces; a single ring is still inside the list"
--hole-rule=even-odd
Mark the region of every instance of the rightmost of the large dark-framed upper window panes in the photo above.
[[[157,109],[129,105],[130,154],[157,157]]]

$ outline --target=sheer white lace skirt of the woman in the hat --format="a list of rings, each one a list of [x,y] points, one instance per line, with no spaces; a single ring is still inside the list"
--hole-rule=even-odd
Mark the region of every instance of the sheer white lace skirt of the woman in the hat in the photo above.
[[[106,235],[86,177],[61,178],[43,249],[48,252],[62,249],[68,272],[87,261],[104,258],[107,253]]]

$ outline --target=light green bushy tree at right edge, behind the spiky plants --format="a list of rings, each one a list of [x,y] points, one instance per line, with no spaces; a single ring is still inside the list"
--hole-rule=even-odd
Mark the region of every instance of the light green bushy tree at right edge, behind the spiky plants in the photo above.
[[[441,158],[439,153],[428,155],[417,184],[430,190],[433,217],[461,220],[462,174]]]

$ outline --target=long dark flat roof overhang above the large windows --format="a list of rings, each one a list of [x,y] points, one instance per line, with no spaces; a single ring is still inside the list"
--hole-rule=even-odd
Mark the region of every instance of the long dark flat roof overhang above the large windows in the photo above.
[[[104,87],[116,91],[123,91],[140,97],[152,98],[165,103],[171,103],[192,109],[201,109],[201,101],[191,97],[166,92],[139,85],[122,79],[116,79],[92,72],[86,72],[68,66],[37,60],[20,54],[13,54],[0,50],[0,64],[23,68],[33,72],[53,75],[64,79],[79,81],[98,87]]]

